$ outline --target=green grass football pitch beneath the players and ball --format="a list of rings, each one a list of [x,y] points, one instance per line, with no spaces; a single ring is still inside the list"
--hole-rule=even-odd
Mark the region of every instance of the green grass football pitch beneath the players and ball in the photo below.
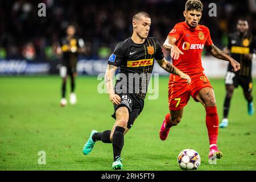
[[[221,121],[224,79],[210,81]],[[89,155],[82,154],[91,130],[109,130],[114,123],[108,94],[97,92],[100,82],[97,77],[78,77],[77,105],[60,107],[58,76],[0,77],[0,169],[111,170],[112,144],[97,142]],[[159,129],[167,112],[168,77],[160,77],[158,99],[146,97],[143,112],[125,136],[123,170],[181,170],[177,156],[185,148],[199,152],[197,170],[256,170],[256,114],[247,114],[241,88],[234,92],[228,128],[219,129],[224,156],[217,165],[208,164],[204,107],[191,98],[181,123],[162,141]],[[46,154],[46,164],[38,164],[40,151]]]

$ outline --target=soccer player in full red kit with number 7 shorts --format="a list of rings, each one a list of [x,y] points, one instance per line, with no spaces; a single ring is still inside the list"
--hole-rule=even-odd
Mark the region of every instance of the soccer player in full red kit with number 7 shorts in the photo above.
[[[229,57],[216,46],[210,38],[210,31],[206,26],[200,25],[203,4],[199,0],[188,0],[185,4],[185,22],[180,22],[170,31],[163,47],[171,51],[172,62],[180,71],[191,77],[191,84],[187,84],[180,77],[170,75],[168,85],[169,109],[166,114],[159,135],[161,140],[168,136],[170,128],[176,126],[183,115],[183,107],[187,105],[190,96],[196,102],[201,102],[206,111],[206,125],[208,129],[210,160],[222,157],[217,147],[218,114],[213,87],[204,73],[201,64],[201,52],[205,47],[207,51],[218,59],[229,61],[236,72],[240,64]]]

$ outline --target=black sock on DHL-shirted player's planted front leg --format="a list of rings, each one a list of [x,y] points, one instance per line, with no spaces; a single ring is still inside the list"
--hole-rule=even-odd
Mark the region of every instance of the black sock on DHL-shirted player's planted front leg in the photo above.
[[[123,133],[125,132],[125,128],[121,126],[116,126],[112,139],[113,146],[113,154],[114,154],[114,162],[121,157],[121,151],[124,143]]]

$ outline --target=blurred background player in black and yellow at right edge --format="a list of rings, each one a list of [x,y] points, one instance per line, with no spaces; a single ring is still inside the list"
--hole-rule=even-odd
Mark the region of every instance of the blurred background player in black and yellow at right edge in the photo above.
[[[238,72],[232,72],[232,66],[228,65],[228,72],[225,77],[226,97],[224,101],[224,116],[220,127],[228,126],[228,113],[230,107],[230,100],[233,96],[234,89],[238,85],[242,86],[243,94],[247,101],[247,111],[249,115],[253,115],[253,96],[251,91],[253,89],[253,82],[251,78],[251,65],[255,48],[256,39],[249,31],[247,20],[239,19],[237,22],[237,31],[229,35],[228,47],[225,52],[231,55],[233,59],[238,60],[241,69]]]

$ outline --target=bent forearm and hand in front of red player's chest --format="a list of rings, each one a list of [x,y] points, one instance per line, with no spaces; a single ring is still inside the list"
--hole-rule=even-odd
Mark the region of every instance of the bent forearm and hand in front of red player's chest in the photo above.
[[[180,51],[180,49],[175,46],[176,38],[174,36],[167,36],[166,41],[163,44],[163,47],[167,49],[168,51],[171,50],[171,57],[172,59],[179,59],[180,54],[184,55],[183,52]]]

